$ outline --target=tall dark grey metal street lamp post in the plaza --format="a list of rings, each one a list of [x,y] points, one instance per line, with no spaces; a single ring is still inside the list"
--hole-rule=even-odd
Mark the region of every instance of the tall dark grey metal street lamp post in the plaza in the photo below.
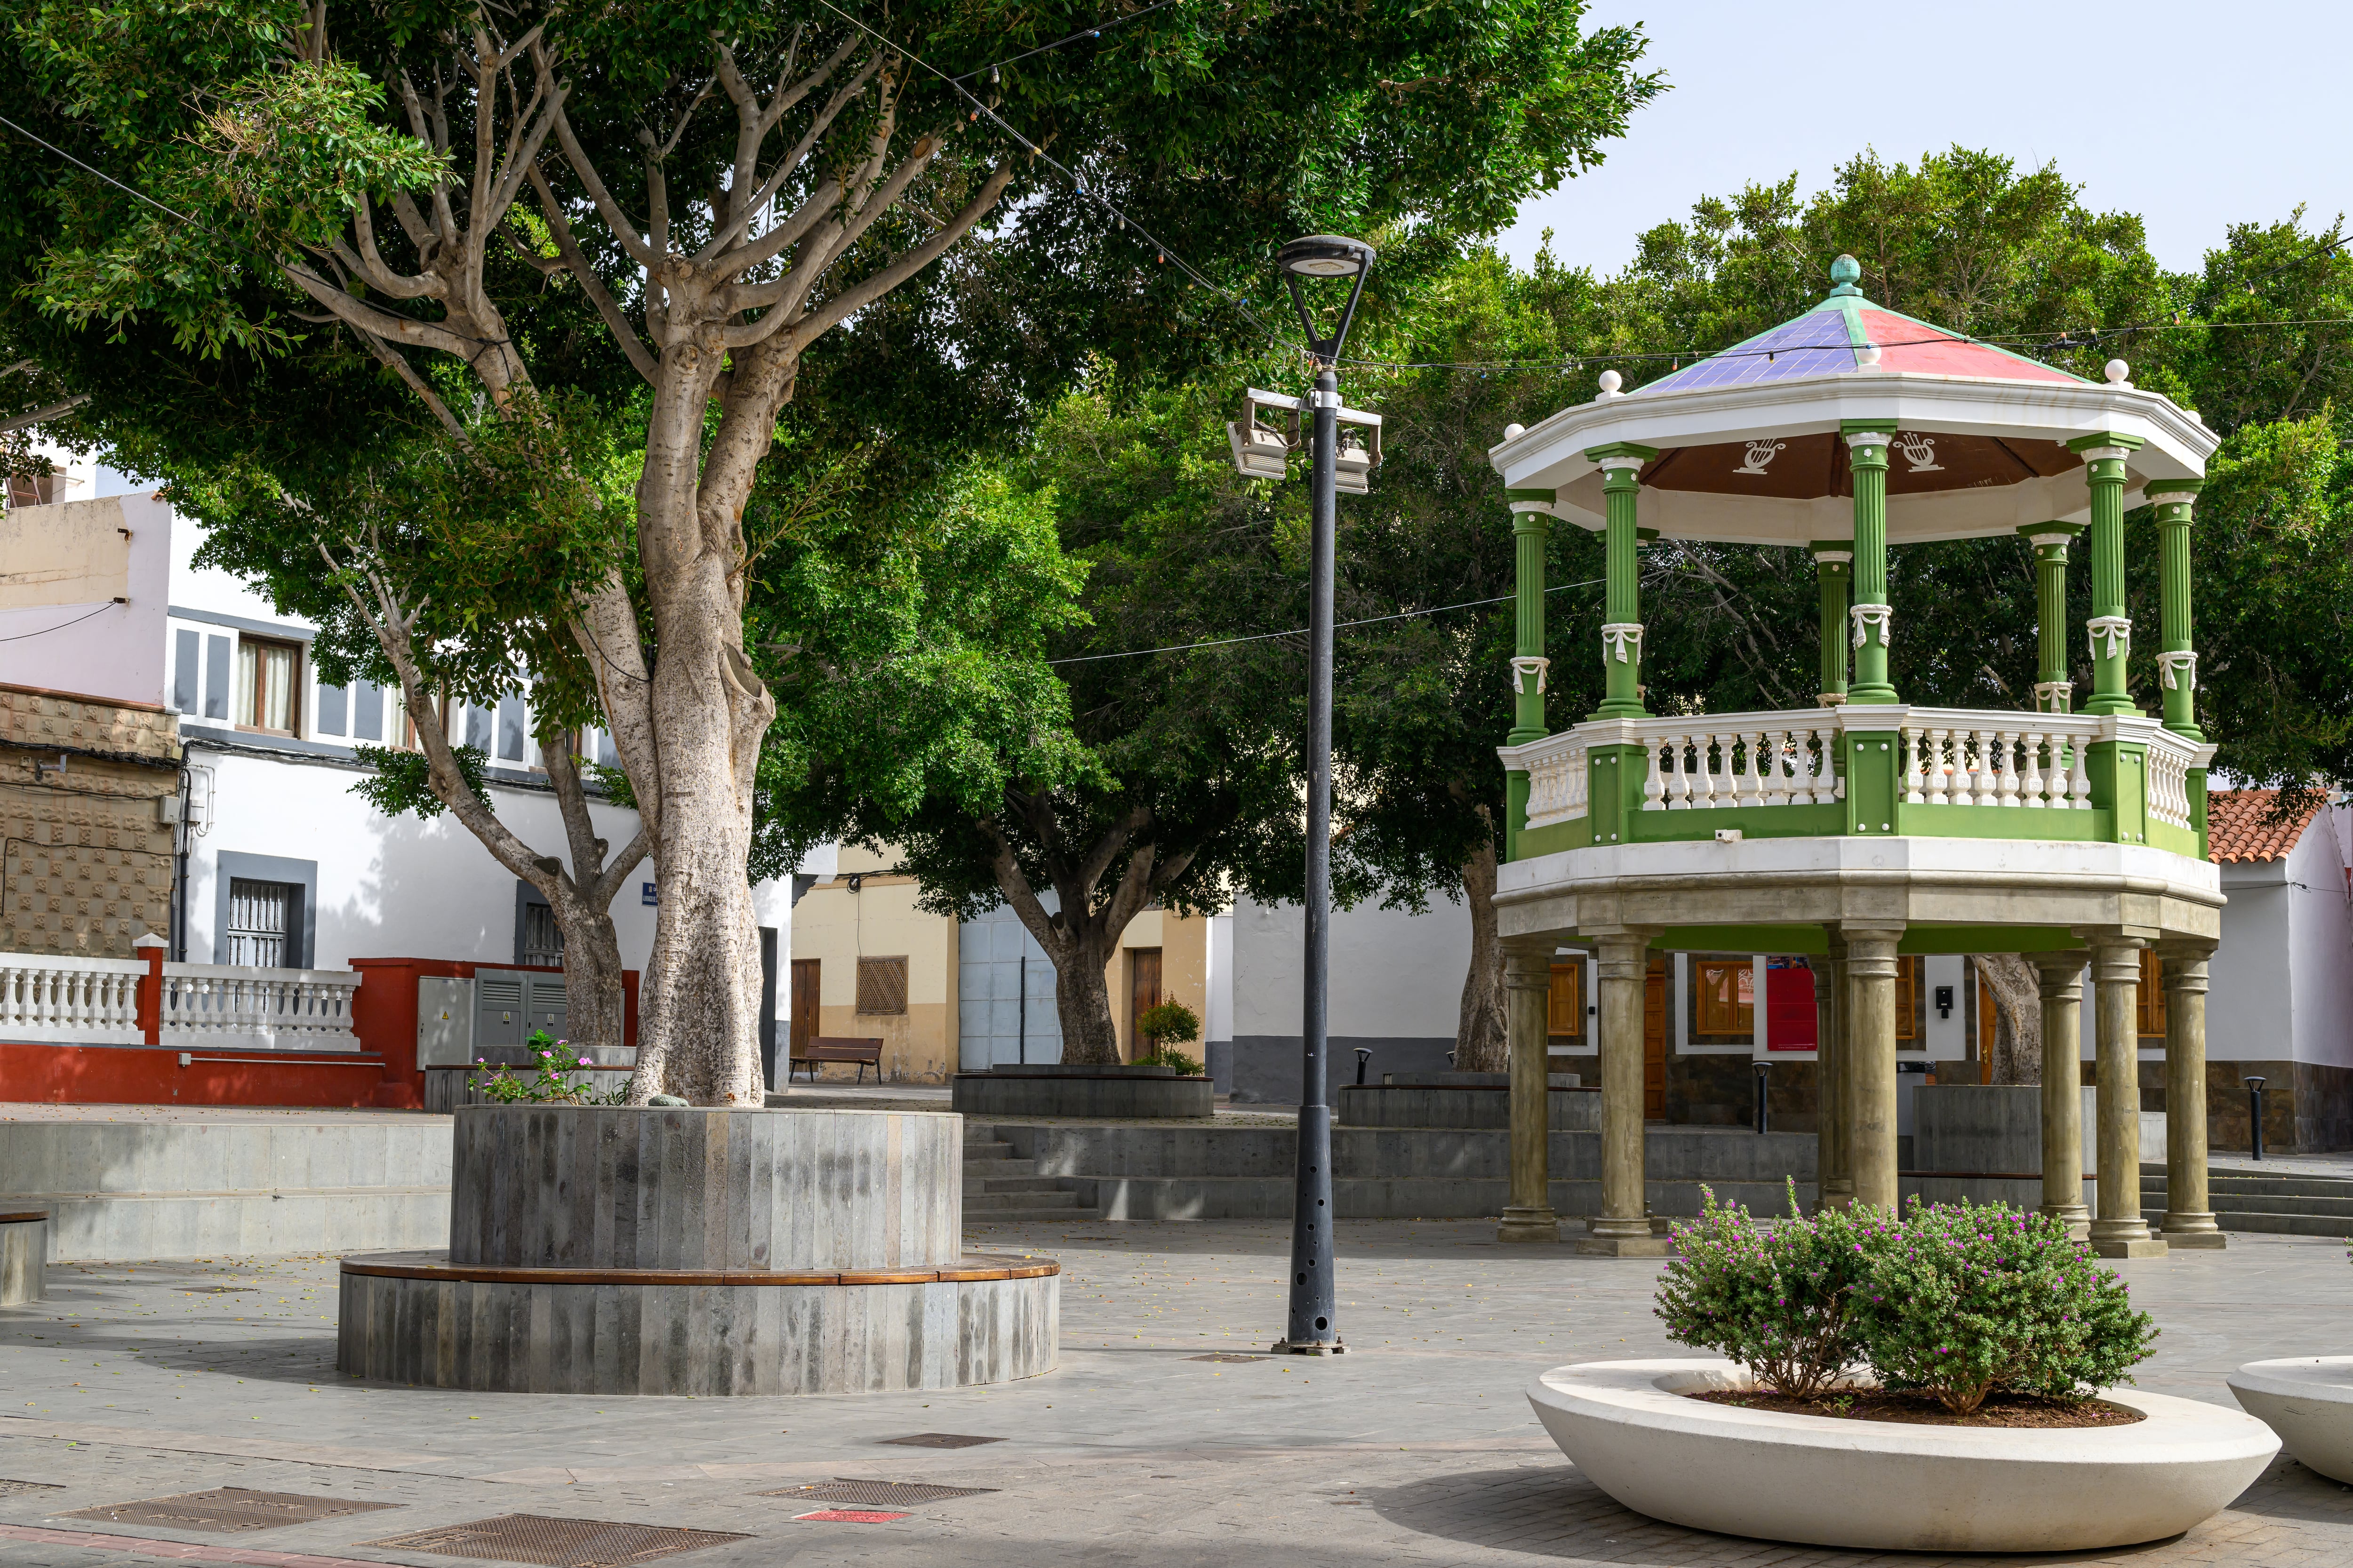
[[[1301,980],[1299,1157],[1292,1199],[1292,1307],[1278,1352],[1332,1356],[1339,1338],[1332,1269],[1332,1107],[1327,1074],[1329,957],[1332,957],[1332,534],[1339,465],[1339,350],[1365,296],[1372,247],[1339,235],[1292,240],[1275,259],[1299,308],[1299,324],[1315,357],[1313,442],[1308,489],[1308,877],[1306,976]],[[1311,277],[1348,277],[1348,303],[1329,336],[1308,310]]]

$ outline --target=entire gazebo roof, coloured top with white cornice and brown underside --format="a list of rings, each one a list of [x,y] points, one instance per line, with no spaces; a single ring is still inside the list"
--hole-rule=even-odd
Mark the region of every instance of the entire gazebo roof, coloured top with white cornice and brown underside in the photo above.
[[[1593,402],[1508,430],[1487,456],[1515,498],[1602,527],[1598,451],[1647,449],[1640,524],[1666,538],[1807,545],[1852,531],[1845,433],[1887,430],[1894,543],[2080,522],[2080,447],[2127,447],[2127,505],[2155,480],[2205,473],[2217,437],[2127,378],[2085,381],[1934,322],[1887,310],[1840,256],[1805,315],[1633,393],[1602,376]],[[2120,437],[2120,440],[2118,440]]]

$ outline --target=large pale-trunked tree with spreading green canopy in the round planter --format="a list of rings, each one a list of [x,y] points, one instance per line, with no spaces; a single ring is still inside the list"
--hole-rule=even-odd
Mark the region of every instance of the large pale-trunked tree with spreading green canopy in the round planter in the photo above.
[[[1579,33],[1577,0],[1101,21],[974,0],[871,24],[826,0],[16,9],[28,115],[136,188],[49,172],[54,233],[21,282],[66,320],[162,320],[188,353],[329,324],[454,435],[473,407],[534,418],[527,393],[576,355],[527,329],[562,289],[642,378],[635,571],[565,623],[661,870],[640,1100],[760,1093],[746,856],[774,698],[744,649],[744,510],[826,334],[991,228],[1021,303],[962,353],[1179,355],[1238,320],[1195,277],[1257,275],[1311,221],[1494,226],[1654,89],[1640,38]]]

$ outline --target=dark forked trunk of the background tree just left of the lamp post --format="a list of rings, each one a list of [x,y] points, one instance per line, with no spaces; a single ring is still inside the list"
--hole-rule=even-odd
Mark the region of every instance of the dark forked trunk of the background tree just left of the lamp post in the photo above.
[[[1158,844],[1134,844],[1151,827],[1153,813],[1146,806],[1127,811],[1113,823],[1085,856],[1061,853],[1054,832],[1054,806],[1042,795],[1005,792],[1012,818],[1019,818],[1040,844],[1045,844],[1047,877],[1054,886],[1059,910],[1047,914],[1045,900],[1021,872],[1005,825],[984,820],[981,832],[991,842],[991,870],[998,891],[1012,905],[1021,926],[1038,938],[1045,957],[1054,964],[1054,1013],[1061,1018],[1061,1060],[1082,1067],[1108,1067],[1120,1060],[1120,1032],[1111,1020],[1111,985],[1104,969],[1120,952],[1120,933],[1151,907],[1153,898],[1174,886],[1193,865],[1191,849],[1162,856]],[[1134,849],[1129,849],[1134,844]],[[1108,896],[1099,889],[1115,860],[1122,860],[1120,879]]]

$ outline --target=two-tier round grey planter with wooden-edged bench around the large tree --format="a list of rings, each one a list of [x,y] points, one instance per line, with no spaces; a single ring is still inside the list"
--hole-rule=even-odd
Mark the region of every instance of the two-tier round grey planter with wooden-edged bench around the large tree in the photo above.
[[[1061,1267],[962,1251],[951,1114],[466,1105],[449,1251],[344,1260],[336,1368],[532,1394],[864,1394],[1054,1368]]]

